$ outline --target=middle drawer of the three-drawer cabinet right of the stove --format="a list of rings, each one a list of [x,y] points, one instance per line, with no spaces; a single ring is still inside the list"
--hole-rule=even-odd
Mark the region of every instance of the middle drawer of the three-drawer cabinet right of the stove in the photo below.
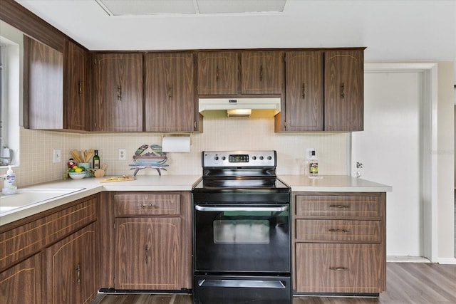
[[[296,220],[297,241],[381,241],[380,221]]]

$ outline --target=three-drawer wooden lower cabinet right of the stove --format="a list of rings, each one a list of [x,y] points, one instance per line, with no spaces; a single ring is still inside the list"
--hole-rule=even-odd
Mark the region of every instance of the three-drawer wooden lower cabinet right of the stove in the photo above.
[[[294,291],[386,288],[385,193],[294,192]]]

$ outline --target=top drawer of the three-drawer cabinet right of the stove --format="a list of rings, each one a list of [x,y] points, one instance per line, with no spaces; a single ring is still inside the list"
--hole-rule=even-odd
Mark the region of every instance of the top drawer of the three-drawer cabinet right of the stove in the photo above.
[[[297,216],[380,217],[380,196],[296,196]]]

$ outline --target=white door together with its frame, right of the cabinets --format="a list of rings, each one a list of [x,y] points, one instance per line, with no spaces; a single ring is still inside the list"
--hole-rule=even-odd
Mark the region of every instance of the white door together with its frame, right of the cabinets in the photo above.
[[[432,261],[436,250],[430,152],[434,68],[432,63],[365,65],[365,125],[351,135],[351,174],[393,187],[387,193],[387,256]]]

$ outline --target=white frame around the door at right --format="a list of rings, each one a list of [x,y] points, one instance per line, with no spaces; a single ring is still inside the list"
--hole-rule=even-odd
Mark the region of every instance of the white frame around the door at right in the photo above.
[[[408,73],[423,75],[423,100],[420,104],[422,135],[420,162],[421,231],[423,256],[438,260],[437,235],[437,63],[365,63],[364,73]],[[351,133],[350,133],[351,141]],[[349,145],[351,147],[351,144]],[[351,151],[347,172],[351,175]],[[394,189],[393,189],[394,191]]]

